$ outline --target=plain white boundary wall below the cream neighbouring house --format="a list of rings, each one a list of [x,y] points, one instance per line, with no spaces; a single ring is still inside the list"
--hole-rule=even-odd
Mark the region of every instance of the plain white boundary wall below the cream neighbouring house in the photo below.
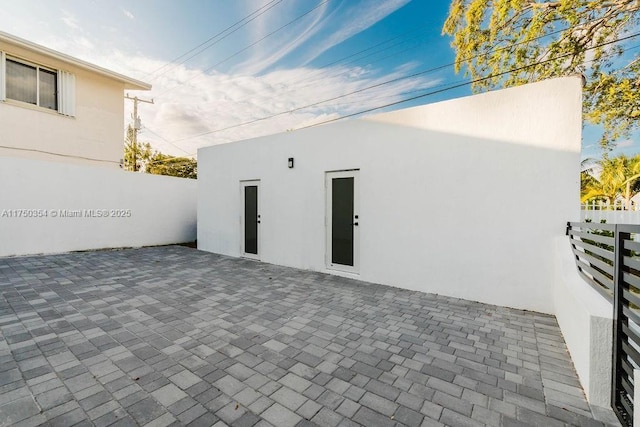
[[[193,241],[196,193],[190,179],[0,157],[0,256]]]

